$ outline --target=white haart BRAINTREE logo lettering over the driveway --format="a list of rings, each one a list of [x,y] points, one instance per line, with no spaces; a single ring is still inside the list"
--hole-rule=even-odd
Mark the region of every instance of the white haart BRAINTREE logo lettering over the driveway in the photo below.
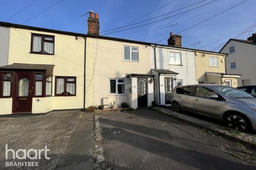
[[[44,155],[45,159],[50,159],[47,156],[47,152],[50,149],[47,149],[47,145],[45,145],[44,149],[18,149],[14,151],[13,149],[8,148],[8,144],[5,145],[5,159],[8,159],[8,154],[12,154],[12,159],[19,160],[38,160],[42,159],[41,155]],[[38,166],[38,162],[6,162],[5,166]]]

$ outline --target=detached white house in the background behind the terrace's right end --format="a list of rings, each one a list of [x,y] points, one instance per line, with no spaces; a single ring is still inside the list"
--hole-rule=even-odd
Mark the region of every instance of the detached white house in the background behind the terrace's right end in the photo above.
[[[242,74],[238,78],[238,86],[256,84],[256,33],[247,40],[229,39],[220,49],[221,53],[228,53],[226,67],[228,74]]]

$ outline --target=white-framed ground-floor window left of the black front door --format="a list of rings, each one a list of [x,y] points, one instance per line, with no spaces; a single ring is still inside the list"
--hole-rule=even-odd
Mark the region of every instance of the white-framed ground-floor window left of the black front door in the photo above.
[[[125,94],[124,79],[109,79],[110,94]]]

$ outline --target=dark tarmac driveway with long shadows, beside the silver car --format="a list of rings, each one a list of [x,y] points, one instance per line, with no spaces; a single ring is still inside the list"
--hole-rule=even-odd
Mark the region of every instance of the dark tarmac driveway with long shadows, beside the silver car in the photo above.
[[[232,142],[149,109],[100,115],[103,151],[117,169],[255,169]]]

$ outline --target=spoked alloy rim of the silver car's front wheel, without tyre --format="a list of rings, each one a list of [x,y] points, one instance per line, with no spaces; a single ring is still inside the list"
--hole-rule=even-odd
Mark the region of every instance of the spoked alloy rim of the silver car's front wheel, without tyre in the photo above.
[[[237,115],[228,116],[227,125],[235,130],[244,131],[246,129],[246,121]]]

